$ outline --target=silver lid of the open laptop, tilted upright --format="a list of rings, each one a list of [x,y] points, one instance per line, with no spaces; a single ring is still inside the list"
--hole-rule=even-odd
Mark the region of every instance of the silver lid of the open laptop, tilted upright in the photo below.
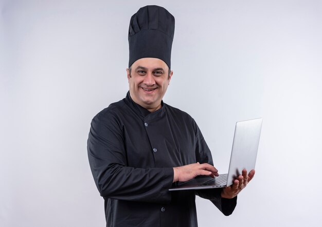
[[[242,170],[255,169],[262,118],[236,123],[234,142],[230,156],[227,186],[231,185]]]

